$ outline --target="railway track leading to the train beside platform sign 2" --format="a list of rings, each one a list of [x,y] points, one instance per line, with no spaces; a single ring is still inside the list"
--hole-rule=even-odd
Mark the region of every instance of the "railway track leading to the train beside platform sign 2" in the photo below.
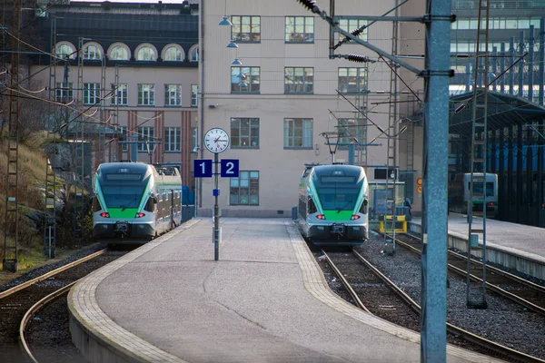
[[[336,253],[332,258],[322,250],[322,255],[331,266],[337,279],[341,280],[342,285],[349,291],[356,306],[405,328],[420,331],[420,305],[361,254],[352,250],[352,255]],[[354,263],[360,264],[358,272],[348,268]],[[343,269],[346,270],[340,270],[337,267],[338,264],[342,264]],[[447,331],[451,337],[456,337],[458,343],[460,342],[459,337],[462,337],[467,340],[470,346],[479,346],[479,349],[472,349],[483,354],[515,362],[545,362],[540,358],[531,357],[489,339],[481,338],[450,323],[447,323]]]

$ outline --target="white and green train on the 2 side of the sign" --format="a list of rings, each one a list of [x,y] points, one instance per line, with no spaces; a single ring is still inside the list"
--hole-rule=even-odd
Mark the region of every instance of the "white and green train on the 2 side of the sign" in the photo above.
[[[298,225],[315,245],[361,245],[369,236],[369,186],[353,165],[317,165],[302,173]]]

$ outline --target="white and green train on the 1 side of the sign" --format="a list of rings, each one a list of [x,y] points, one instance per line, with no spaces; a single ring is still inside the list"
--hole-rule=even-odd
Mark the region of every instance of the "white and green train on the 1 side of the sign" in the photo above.
[[[182,223],[182,179],[174,167],[106,162],[94,175],[93,233],[107,244],[145,243]]]

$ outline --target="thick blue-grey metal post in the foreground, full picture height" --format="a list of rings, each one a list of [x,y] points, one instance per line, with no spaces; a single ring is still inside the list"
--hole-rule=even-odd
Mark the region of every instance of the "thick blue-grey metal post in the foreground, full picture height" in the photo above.
[[[424,154],[422,217],[421,361],[446,361],[447,161],[449,148],[449,74],[451,0],[427,0],[424,79]],[[431,198],[432,196],[432,198]]]

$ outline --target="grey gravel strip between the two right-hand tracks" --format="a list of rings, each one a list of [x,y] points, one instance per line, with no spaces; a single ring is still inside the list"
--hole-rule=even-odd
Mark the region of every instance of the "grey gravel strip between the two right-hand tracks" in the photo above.
[[[381,254],[382,237],[372,233],[356,248],[389,279],[421,303],[421,260],[402,247],[395,256]],[[545,359],[545,317],[487,291],[488,309],[468,309],[465,278],[450,275],[447,289],[447,320],[461,329]]]

